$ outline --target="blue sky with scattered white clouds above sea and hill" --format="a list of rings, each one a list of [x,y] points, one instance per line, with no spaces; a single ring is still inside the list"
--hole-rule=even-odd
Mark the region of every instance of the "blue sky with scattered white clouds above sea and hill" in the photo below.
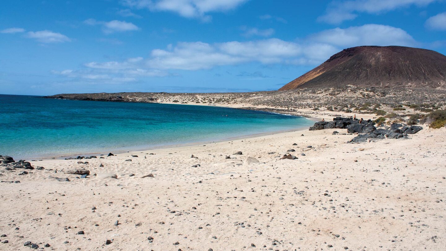
[[[0,93],[275,90],[353,46],[446,54],[445,0],[15,0]]]

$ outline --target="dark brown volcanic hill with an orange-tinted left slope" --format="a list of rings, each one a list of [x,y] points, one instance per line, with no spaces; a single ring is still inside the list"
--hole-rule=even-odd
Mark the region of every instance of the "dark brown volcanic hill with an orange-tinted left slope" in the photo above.
[[[403,46],[358,46],[334,54],[279,89],[359,87],[446,89],[446,56]]]

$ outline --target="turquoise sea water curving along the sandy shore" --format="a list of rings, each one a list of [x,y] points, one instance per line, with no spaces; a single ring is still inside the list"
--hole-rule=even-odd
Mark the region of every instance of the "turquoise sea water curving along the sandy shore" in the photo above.
[[[215,106],[17,95],[0,95],[0,117],[0,155],[14,159],[213,142],[314,123],[304,117]]]

